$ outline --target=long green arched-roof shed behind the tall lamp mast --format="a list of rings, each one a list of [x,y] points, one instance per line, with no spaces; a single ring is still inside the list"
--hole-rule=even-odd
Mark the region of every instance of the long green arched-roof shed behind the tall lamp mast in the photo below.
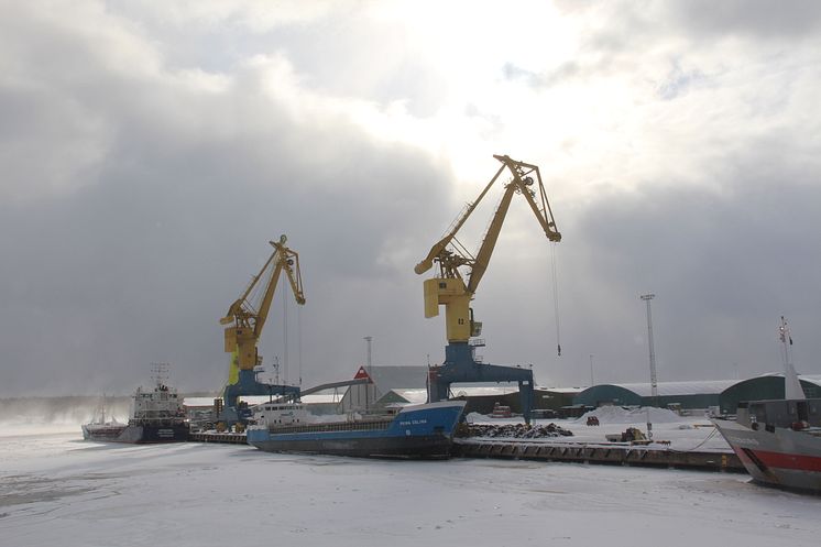
[[[682,409],[719,406],[721,394],[736,384],[736,380],[707,380],[700,382],[663,382],[658,396],[653,396],[649,383],[600,384],[573,397],[574,405],[602,406],[660,406],[680,405]]]

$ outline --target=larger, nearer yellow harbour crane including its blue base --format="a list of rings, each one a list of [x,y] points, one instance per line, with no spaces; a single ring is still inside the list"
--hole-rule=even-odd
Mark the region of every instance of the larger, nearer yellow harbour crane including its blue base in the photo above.
[[[439,306],[445,306],[448,346],[445,348],[445,362],[430,368],[428,401],[433,403],[448,398],[450,385],[453,383],[518,382],[523,415],[529,424],[533,408],[533,371],[519,367],[485,364],[475,360],[474,349],[483,346],[483,342],[475,338],[482,333],[482,324],[474,319],[470,300],[473,299],[488,270],[514,194],[521,194],[525,198],[549,241],[561,241],[561,233],[556,229],[539,168],[511,160],[506,155],[493,157],[502,163],[495,176],[477,200],[468,204],[445,237],[430,249],[428,255],[414,267],[417,274],[424,274],[434,267],[434,263],[438,263],[439,266],[437,275],[424,282],[425,317],[436,317],[439,315]],[[505,169],[512,178],[505,184],[502,200],[474,256],[457,240],[456,234]],[[460,267],[467,270],[467,283]]]

